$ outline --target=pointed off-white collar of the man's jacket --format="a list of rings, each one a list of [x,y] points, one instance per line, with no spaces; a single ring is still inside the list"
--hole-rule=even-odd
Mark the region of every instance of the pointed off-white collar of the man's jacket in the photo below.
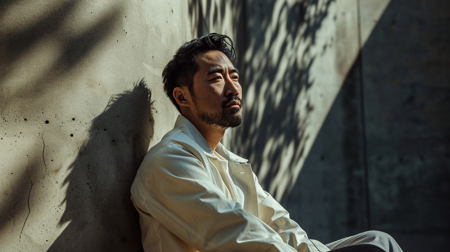
[[[178,115],[176,118],[174,129],[179,129],[184,132],[184,134],[188,135],[190,139],[192,139],[196,144],[202,148],[203,152],[211,158],[217,158],[211,147],[209,147],[208,142],[197,130],[197,128],[190,122],[186,117],[182,115]],[[219,143],[216,147],[217,153],[220,156],[224,157],[226,160],[236,163],[246,163],[248,159],[239,157],[238,155],[228,151],[221,143]]]

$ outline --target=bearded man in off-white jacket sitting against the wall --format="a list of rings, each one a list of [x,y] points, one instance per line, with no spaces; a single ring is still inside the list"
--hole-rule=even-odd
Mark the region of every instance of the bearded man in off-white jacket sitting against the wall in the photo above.
[[[233,54],[228,36],[211,33],[184,43],[162,72],[164,90],[181,115],[150,148],[131,187],[144,250],[324,252],[372,244],[377,251],[401,251],[376,231],[326,246],[308,239],[261,188],[247,159],[220,144],[225,129],[243,121]]]

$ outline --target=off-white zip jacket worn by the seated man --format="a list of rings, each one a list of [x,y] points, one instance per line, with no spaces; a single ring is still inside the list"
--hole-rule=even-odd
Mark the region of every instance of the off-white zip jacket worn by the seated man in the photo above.
[[[266,193],[247,159],[216,148],[244,194],[232,200],[214,165],[216,155],[193,124],[179,116],[150,148],[131,186],[146,252],[324,252]]]

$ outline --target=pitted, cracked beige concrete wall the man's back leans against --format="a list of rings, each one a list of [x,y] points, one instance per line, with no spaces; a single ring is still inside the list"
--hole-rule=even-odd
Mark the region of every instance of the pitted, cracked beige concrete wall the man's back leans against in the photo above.
[[[194,36],[192,8],[12,0],[0,13],[0,251],[142,251],[129,188],[175,121],[161,72]]]

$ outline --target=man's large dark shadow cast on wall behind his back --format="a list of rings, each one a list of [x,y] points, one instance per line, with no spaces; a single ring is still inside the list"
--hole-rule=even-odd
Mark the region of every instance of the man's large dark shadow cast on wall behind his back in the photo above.
[[[48,252],[142,251],[139,216],[130,187],[153,137],[151,90],[144,80],[113,95],[92,120],[64,180],[67,225]]]

